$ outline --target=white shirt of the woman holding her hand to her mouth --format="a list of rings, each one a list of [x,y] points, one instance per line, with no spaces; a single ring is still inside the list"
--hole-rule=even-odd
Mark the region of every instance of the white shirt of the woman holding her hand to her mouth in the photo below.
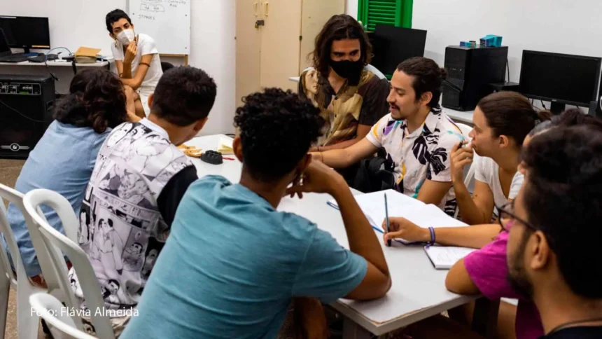
[[[489,186],[489,189],[493,193],[493,202],[497,207],[502,207],[508,202],[508,199],[514,200],[517,198],[521,186],[523,184],[524,176],[517,172],[512,177],[512,183],[510,183],[510,191],[508,191],[508,198],[505,197],[502,185],[500,184],[500,166],[493,161],[491,158],[478,157],[473,164],[475,167],[475,180],[481,181]],[[497,209],[493,209],[493,220],[498,219]]]

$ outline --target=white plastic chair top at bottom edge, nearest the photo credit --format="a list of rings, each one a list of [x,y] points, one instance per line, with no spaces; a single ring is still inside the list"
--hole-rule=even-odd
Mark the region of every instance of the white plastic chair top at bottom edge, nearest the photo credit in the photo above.
[[[31,309],[50,325],[50,333],[54,338],[65,338],[62,335],[64,333],[69,335],[69,338],[96,339],[92,335],[78,330],[76,321],[62,312],[64,307],[54,296],[48,293],[35,293],[29,296],[29,304]]]

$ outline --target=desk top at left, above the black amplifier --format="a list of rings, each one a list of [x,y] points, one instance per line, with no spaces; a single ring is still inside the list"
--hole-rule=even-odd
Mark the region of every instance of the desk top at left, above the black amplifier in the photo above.
[[[78,71],[102,67],[110,69],[111,62],[97,61],[94,64],[76,64],[76,67]],[[55,91],[59,94],[69,93],[69,83],[71,83],[71,79],[73,78],[73,68],[71,66],[71,62],[56,62],[55,60],[52,60],[48,62],[48,69],[50,69],[50,71],[52,71],[52,73],[59,78],[58,81],[55,81]],[[0,74],[50,76],[48,69],[43,62],[0,62]]]

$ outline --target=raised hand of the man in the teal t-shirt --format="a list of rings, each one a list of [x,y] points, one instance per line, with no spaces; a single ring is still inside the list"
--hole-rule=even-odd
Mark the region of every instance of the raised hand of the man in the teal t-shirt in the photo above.
[[[290,195],[291,198],[295,194],[299,195],[299,198],[303,198],[303,193],[332,195],[339,186],[346,186],[341,174],[312,158],[305,172],[293,181],[293,186],[286,190],[286,195]]]

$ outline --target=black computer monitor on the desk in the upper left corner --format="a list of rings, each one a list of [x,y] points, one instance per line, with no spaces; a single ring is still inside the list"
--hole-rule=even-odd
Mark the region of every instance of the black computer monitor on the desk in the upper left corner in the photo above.
[[[0,16],[0,28],[12,48],[50,49],[48,18]]]

